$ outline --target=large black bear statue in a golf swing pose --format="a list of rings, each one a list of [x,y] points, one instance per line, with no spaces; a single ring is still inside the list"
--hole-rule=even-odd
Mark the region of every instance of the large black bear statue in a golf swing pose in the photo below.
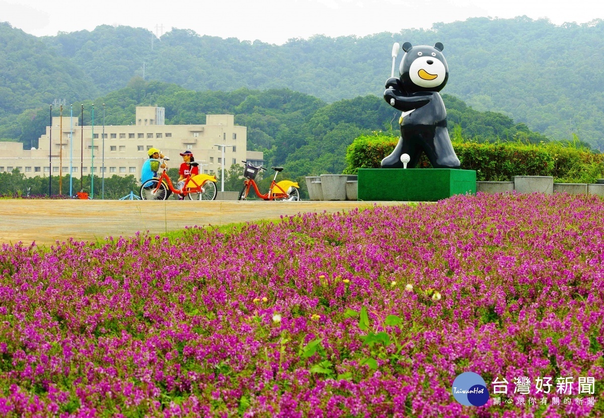
[[[403,154],[410,156],[407,167],[413,168],[423,151],[435,169],[458,169],[460,161],[449,138],[445,103],[439,94],[449,78],[443,44],[413,47],[405,42],[402,48],[400,77],[388,79],[384,92],[390,106],[402,112],[400,138],[393,152],[382,159],[382,168],[402,168]]]

